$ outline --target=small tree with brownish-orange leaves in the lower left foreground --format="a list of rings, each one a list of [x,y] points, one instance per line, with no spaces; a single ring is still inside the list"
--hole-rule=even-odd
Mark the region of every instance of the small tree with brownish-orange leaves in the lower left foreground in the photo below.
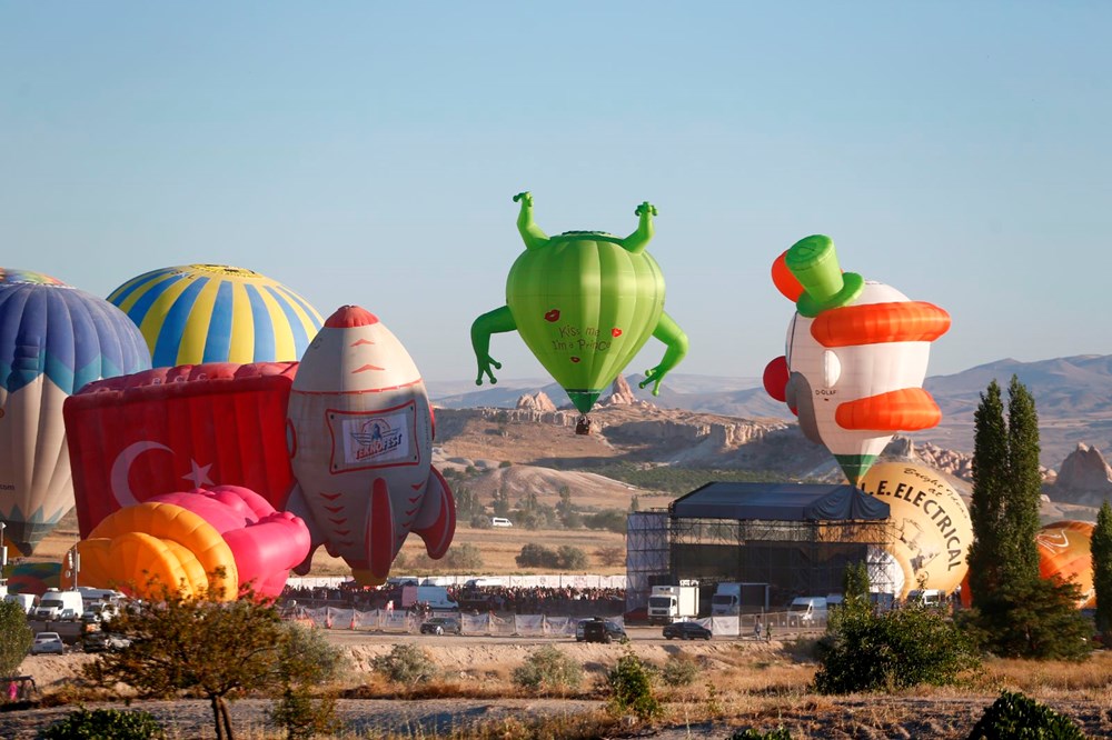
[[[86,678],[125,683],[142,698],[200,694],[211,704],[217,740],[234,740],[228,702],[248,691],[279,690],[297,680],[302,663],[284,657],[289,628],[278,610],[250,592],[222,601],[221,576],[214,572],[215,586],[200,596],[148,583],[151,598],[106,624],[131,644],[98,656],[85,667]]]

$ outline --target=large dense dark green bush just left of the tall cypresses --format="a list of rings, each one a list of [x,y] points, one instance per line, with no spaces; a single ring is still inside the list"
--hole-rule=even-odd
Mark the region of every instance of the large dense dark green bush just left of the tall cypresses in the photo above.
[[[945,686],[979,662],[966,634],[926,607],[882,614],[846,610],[832,621],[817,652],[820,693]]]

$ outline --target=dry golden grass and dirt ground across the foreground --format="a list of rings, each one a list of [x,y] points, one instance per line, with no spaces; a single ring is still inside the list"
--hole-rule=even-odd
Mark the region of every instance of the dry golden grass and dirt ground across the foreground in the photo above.
[[[768,731],[784,727],[797,740],[934,738],[959,740],[1002,689],[1022,691],[1078,722],[1088,737],[1112,737],[1112,653],[1083,663],[1031,663],[987,660],[960,687],[920,687],[896,693],[827,697],[808,690],[814,671],[813,640],[758,642],[716,638],[711,642],[674,643],[633,633],[628,646],[576,643],[568,639],[527,641],[498,638],[434,638],[328,633],[350,658],[353,670],[335,687],[346,729],[337,740],[375,738],[463,740],[512,738],[567,740],[585,738],[656,738],[727,740],[744,728]],[[429,683],[406,688],[371,671],[371,661],[398,642],[415,642],[438,668]],[[555,646],[584,668],[585,680],[566,696],[537,696],[516,686],[513,671],[540,643]],[[606,710],[606,672],[626,652],[662,669],[669,660],[694,661],[697,674],[687,686],[654,680],[663,714],[636,722]],[[72,709],[97,697],[72,679],[91,656],[41,656],[21,667],[37,676],[47,700],[28,711],[0,712],[0,737],[23,740]],[[106,699],[106,697],[100,697]],[[66,706],[51,708],[53,704]],[[119,707],[119,702],[116,703]],[[278,740],[268,726],[261,698],[234,704],[240,740]],[[211,737],[208,704],[197,701],[138,702],[172,727],[171,740]]]

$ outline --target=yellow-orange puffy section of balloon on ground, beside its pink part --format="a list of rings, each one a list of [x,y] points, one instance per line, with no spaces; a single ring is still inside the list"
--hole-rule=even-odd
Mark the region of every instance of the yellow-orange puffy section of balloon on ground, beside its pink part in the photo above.
[[[165,502],[139,503],[106,517],[77,544],[85,586],[119,588],[149,598],[152,578],[182,596],[202,596],[209,574],[225,569],[226,600],[235,599],[239,573],[219,531],[188,509]]]

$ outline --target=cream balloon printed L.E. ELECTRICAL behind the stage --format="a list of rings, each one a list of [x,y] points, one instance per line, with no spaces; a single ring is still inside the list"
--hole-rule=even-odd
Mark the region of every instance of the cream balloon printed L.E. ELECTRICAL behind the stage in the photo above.
[[[915,588],[950,592],[961,586],[973,521],[965,501],[941,473],[917,463],[882,462],[860,486],[892,509],[896,539],[886,550],[903,571],[901,599]]]

